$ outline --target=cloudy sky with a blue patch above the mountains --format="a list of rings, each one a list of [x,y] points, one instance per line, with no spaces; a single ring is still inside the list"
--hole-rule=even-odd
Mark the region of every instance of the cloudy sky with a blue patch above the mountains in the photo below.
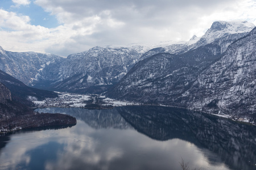
[[[97,45],[187,41],[237,19],[256,25],[256,0],[0,0],[0,46],[66,57]]]

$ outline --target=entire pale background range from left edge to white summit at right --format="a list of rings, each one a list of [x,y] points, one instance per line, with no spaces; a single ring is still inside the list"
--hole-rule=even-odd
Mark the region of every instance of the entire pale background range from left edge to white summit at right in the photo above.
[[[154,54],[183,54],[214,42],[216,53],[245,36],[253,24],[214,22],[203,37],[188,42],[126,46],[96,46],[88,51],[62,58],[34,52],[14,53],[0,48],[0,69],[29,86],[69,92],[101,92],[116,84],[137,63]]]

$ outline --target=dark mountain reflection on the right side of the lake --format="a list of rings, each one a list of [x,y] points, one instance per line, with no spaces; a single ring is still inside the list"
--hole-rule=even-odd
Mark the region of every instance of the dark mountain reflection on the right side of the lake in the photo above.
[[[256,127],[253,125],[166,107],[120,107],[117,111],[148,137],[160,141],[183,139],[215,152],[232,169],[256,169]]]

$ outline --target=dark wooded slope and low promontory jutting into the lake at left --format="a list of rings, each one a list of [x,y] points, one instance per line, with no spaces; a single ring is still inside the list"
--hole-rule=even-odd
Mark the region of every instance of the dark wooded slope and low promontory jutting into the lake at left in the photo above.
[[[17,129],[39,128],[45,126],[67,126],[75,125],[76,118],[65,114],[38,114],[31,108],[24,105],[17,99],[11,97],[17,96],[15,92],[10,91],[0,83],[0,134]]]

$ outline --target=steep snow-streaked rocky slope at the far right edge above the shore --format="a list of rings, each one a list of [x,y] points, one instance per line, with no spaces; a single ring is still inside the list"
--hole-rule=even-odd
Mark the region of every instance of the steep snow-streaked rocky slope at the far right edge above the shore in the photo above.
[[[189,108],[208,112],[255,114],[256,28],[229,46],[181,97]]]

